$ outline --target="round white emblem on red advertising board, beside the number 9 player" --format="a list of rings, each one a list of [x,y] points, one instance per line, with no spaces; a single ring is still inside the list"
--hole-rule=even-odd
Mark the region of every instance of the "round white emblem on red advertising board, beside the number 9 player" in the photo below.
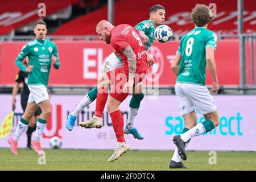
[[[154,66],[151,66],[149,68],[149,73],[147,74],[147,80],[148,81],[156,81],[159,80],[160,76],[163,73],[164,68],[164,59],[162,51],[158,47],[151,46],[150,49],[147,51],[148,55],[152,56],[155,63]]]

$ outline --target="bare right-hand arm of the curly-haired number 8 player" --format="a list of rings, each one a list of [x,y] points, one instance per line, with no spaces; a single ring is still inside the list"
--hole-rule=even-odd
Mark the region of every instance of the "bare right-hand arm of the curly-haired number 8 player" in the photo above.
[[[218,91],[218,78],[217,78],[216,64],[214,59],[214,48],[208,46],[205,48],[205,50],[206,50],[205,59],[207,60],[207,67],[213,78],[212,92],[216,93]]]

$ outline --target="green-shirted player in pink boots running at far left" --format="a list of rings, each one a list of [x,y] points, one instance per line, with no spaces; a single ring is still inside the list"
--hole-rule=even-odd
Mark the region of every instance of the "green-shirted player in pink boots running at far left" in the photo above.
[[[18,122],[14,136],[9,139],[11,152],[15,155],[18,154],[18,140],[27,129],[28,121],[30,121],[39,106],[42,109],[42,113],[36,123],[36,133],[34,139],[31,140],[31,145],[38,154],[43,155],[40,137],[46,127],[47,118],[51,114],[51,105],[47,92],[49,72],[51,64],[53,64],[55,69],[59,69],[60,67],[56,44],[50,40],[46,40],[46,23],[43,21],[36,22],[34,34],[36,35],[36,39],[23,46],[22,51],[15,61],[15,64],[20,70],[29,72],[27,85],[30,90],[26,110]],[[29,59],[28,67],[22,64],[22,60],[26,56]]]

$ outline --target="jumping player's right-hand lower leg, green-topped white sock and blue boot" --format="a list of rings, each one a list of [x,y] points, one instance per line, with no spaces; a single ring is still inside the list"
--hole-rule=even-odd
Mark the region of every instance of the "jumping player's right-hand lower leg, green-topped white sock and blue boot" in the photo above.
[[[139,133],[139,131],[134,127],[134,118],[138,114],[139,106],[143,100],[144,94],[133,94],[130,101],[130,113],[128,115],[127,125],[125,126],[124,133],[132,134],[134,138],[139,140],[144,139],[144,137]]]

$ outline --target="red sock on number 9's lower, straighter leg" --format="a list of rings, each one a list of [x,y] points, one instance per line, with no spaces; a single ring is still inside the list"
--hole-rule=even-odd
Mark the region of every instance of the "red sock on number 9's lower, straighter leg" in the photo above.
[[[98,99],[98,98],[97,98]],[[125,142],[125,134],[123,133],[123,115],[120,110],[110,113],[112,119],[113,129],[117,142]]]

